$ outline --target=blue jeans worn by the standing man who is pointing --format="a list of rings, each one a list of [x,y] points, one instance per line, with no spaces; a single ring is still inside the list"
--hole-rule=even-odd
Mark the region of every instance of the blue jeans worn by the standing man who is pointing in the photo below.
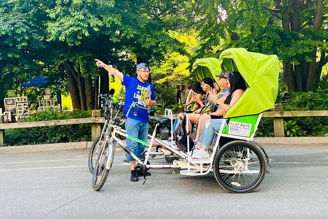
[[[141,122],[139,120],[127,118],[126,119],[126,135],[136,137],[140,140],[148,140],[148,122]],[[145,150],[145,145],[138,143],[130,138],[126,138],[127,147],[138,158],[142,158],[141,153]],[[126,161],[135,161],[131,155],[126,154]]]

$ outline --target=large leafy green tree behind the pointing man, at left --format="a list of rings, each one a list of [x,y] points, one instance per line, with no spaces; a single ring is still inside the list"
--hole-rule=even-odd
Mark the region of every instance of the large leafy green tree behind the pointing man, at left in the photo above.
[[[23,57],[20,54],[28,54],[28,63],[35,59],[55,66],[58,75],[66,75],[74,108],[94,109],[99,84],[101,92],[108,92],[109,80],[107,73],[96,68],[94,58],[109,60],[133,75],[136,62],[153,62],[166,51],[182,51],[182,44],[168,34],[168,27],[178,21],[174,12],[180,10],[174,6],[177,3],[170,4],[167,0],[1,0],[1,12],[6,15],[2,20],[14,23],[10,31],[7,24],[0,24],[1,36],[8,39],[2,44],[10,47],[2,51],[17,52],[12,52],[17,60]],[[170,14],[175,16],[169,19]],[[18,21],[24,31],[16,33]],[[22,37],[28,49],[12,45],[13,36]]]

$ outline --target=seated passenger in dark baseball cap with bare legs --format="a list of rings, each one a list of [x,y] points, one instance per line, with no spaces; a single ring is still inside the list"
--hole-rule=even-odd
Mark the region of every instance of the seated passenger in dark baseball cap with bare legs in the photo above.
[[[222,73],[220,75],[217,75],[217,77],[219,77],[219,85],[220,87],[223,87],[223,89],[217,93],[217,99],[221,99],[226,97],[227,95],[229,95],[229,86],[228,86],[228,77],[229,77],[230,72],[229,71],[222,71]],[[219,87],[218,84],[215,82],[214,84],[214,88],[217,90],[216,87]],[[215,95],[215,90],[213,90],[213,94]],[[210,95],[212,95],[210,93]],[[211,97],[211,99],[213,99],[213,97]],[[215,99],[216,101],[216,99]],[[210,105],[211,104],[215,104],[212,100],[210,101]],[[202,127],[204,124],[204,121],[207,119],[220,119],[222,118],[224,114],[224,111],[221,107],[219,107],[216,104],[216,109],[215,111],[212,111],[209,114],[203,113],[201,115],[201,117],[198,120],[198,126],[197,126],[197,133],[196,133],[196,137],[195,137],[195,142],[198,142],[201,135],[202,135]]]

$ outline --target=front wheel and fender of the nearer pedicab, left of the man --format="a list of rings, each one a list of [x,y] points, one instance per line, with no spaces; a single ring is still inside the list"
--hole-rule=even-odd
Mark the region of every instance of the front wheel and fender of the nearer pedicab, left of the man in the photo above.
[[[104,185],[108,176],[108,172],[112,167],[114,160],[115,143],[116,142],[108,141],[103,152],[99,154],[99,157],[97,159],[97,164],[95,166],[95,171],[93,173],[92,180],[92,187],[96,191],[99,191]]]

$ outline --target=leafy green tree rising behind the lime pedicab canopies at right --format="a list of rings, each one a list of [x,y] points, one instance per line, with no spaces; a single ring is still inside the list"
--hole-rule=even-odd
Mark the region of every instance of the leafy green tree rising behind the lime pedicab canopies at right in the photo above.
[[[290,92],[309,91],[323,82],[322,67],[328,62],[327,1],[200,0],[195,1],[195,12],[202,37],[199,57],[244,47],[278,55]]]

